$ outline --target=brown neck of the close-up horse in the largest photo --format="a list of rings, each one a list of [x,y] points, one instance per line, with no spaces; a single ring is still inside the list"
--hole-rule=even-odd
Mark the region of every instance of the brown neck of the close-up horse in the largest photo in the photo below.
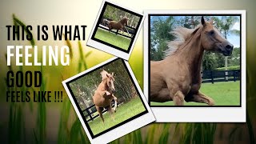
[[[203,47],[201,42],[201,32],[198,30],[190,39],[183,45],[182,49],[178,50],[176,57],[180,58],[179,62],[188,66],[191,78],[201,77]]]

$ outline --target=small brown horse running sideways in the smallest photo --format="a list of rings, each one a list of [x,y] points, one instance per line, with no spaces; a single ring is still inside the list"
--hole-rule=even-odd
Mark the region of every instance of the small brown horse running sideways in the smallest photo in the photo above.
[[[122,18],[119,22],[115,22],[115,21],[110,21],[108,27],[109,27],[109,31],[112,29],[117,30],[117,32],[115,34],[118,34],[118,30],[122,30],[122,34],[123,34],[123,30],[126,29],[125,26],[128,26],[128,18],[124,17]],[[127,33],[129,34],[129,31],[126,29]]]

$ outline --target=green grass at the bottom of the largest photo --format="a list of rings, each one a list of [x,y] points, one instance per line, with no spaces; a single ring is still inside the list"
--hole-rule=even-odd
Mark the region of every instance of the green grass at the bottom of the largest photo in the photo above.
[[[214,106],[239,106],[240,81],[203,83],[200,91],[214,99]],[[174,106],[174,102],[150,102],[151,106]],[[184,102],[185,106],[207,106],[206,103]]]

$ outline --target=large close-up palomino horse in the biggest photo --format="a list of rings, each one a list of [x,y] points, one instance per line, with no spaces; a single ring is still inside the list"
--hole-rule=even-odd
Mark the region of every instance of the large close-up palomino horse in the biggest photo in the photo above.
[[[177,39],[169,43],[166,58],[150,62],[150,101],[174,101],[176,106],[186,102],[204,102],[214,105],[214,100],[199,92],[201,87],[201,66],[204,50],[232,54],[233,45],[222,37],[213,26],[213,20],[193,30],[179,27],[173,34]],[[171,51],[174,49],[172,54]]]

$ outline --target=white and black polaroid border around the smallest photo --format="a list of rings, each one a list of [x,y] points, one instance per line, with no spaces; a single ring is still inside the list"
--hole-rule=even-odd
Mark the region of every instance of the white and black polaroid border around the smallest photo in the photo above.
[[[136,30],[135,30],[136,34],[134,34],[133,38],[131,38],[130,46],[129,46],[128,50],[122,50],[121,48],[118,48],[118,46],[111,45],[107,42],[103,42],[103,41],[100,42],[101,40],[97,40],[96,38],[93,37],[96,34],[97,26],[100,21],[100,18],[102,17],[102,15],[104,13],[104,11],[102,11],[102,10],[103,10],[104,6],[106,7],[106,5],[111,5],[111,6],[113,5],[115,7],[118,7],[118,9],[122,9],[124,11],[128,11],[131,14],[135,14],[136,16],[138,16],[140,18],[140,20],[138,22],[138,26],[136,27]],[[125,59],[128,61],[130,58],[130,54],[134,49],[134,44],[136,42],[136,39],[138,38],[139,31],[142,28],[142,23],[144,22],[144,18],[145,18],[144,14],[135,12],[134,10],[130,10],[129,8],[126,8],[125,6],[119,6],[118,4],[116,4],[114,2],[104,0],[102,2],[102,6],[98,12],[96,21],[94,22],[93,29],[90,32],[90,36],[88,38],[86,45],[92,46],[98,50],[105,51],[106,53],[113,54],[114,56],[117,56],[119,58],[122,58],[122,59]]]

